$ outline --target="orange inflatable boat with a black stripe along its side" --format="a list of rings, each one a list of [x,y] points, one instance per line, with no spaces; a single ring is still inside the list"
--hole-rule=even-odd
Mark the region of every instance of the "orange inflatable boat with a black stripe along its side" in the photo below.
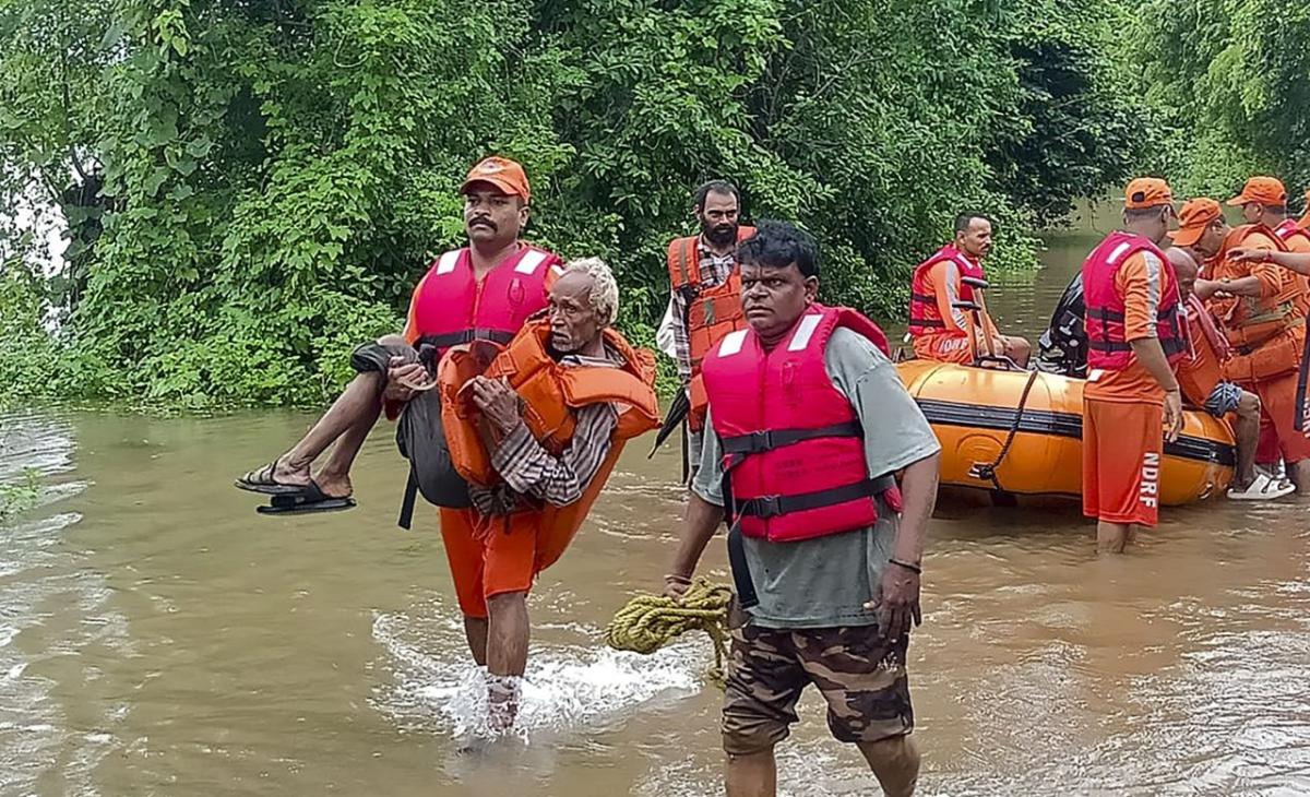
[[[1018,496],[1081,494],[1081,379],[925,359],[896,370],[942,442],[943,485]],[[1233,480],[1227,423],[1204,412],[1184,416],[1178,440],[1165,443],[1166,506],[1205,499]]]

